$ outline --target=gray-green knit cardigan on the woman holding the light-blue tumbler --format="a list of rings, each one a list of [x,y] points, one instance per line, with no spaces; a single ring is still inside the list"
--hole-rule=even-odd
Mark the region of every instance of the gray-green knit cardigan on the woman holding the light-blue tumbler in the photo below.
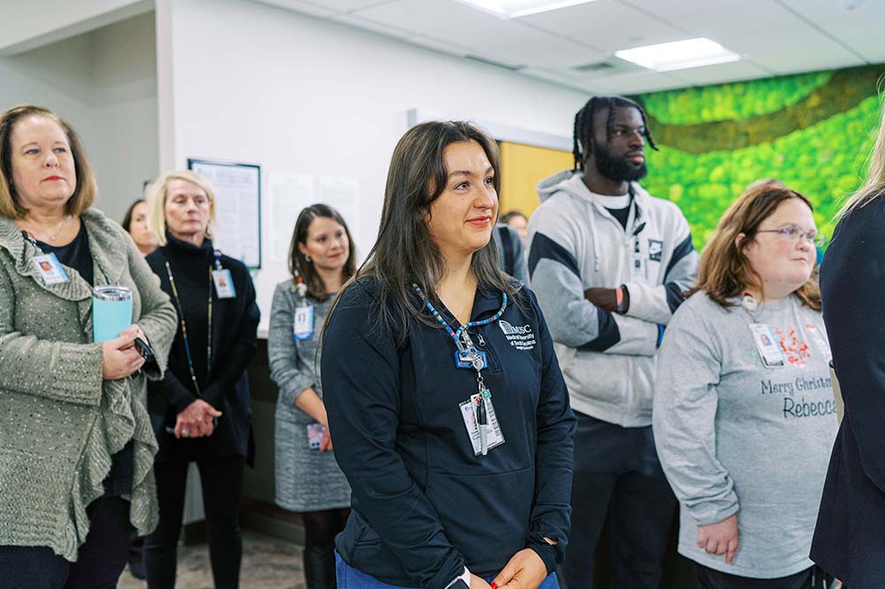
[[[157,524],[146,378],[159,379],[177,328],[169,297],[122,227],[97,210],[81,215],[95,285],[133,290],[133,317],[158,366],[134,379],[103,380],[92,343],[92,288],[72,268],[47,285],[35,248],[0,217],[0,545],[45,546],[68,561],[89,532],[86,507],[104,493],[111,457],[135,440],[130,521]]]

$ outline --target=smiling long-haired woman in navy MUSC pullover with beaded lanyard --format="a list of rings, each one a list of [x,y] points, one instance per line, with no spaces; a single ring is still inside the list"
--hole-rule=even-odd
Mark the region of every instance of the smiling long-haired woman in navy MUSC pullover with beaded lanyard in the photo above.
[[[324,332],[352,489],[341,587],[555,587],[574,416],[535,295],[489,244],[498,153],[467,123],[396,145],[378,241]]]

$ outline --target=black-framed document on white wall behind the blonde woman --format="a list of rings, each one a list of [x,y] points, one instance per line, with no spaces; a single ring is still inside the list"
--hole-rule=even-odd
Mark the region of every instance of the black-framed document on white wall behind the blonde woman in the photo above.
[[[261,167],[189,157],[188,169],[215,189],[215,247],[250,268],[260,268]]]

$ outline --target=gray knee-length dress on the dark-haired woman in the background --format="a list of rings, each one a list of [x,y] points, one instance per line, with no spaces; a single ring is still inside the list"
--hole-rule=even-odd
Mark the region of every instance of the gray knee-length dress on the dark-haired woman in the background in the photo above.
[[[271,379],[280,387],[275,415],[276,502],[291,511],[319,511],[350,507],[350,486],[332,452],[307,445],[307,426],[315,420],[295,406],[304,389],[322,397],[319,368],[319,331],[326,321],[332,297],[326,302],[299,300],[292,280],[281,282],[273,293],[267,355]],[[313,307],[313,337],[295,340],[296,307]]]

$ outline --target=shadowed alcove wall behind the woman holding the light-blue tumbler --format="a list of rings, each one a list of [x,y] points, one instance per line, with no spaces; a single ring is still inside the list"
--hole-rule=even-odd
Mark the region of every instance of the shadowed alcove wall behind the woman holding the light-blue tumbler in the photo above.
[[[0,111],[35,103],[81,134],[98,178],[98,208],[122,220],[158,173],[153,14],[0,57]]]

